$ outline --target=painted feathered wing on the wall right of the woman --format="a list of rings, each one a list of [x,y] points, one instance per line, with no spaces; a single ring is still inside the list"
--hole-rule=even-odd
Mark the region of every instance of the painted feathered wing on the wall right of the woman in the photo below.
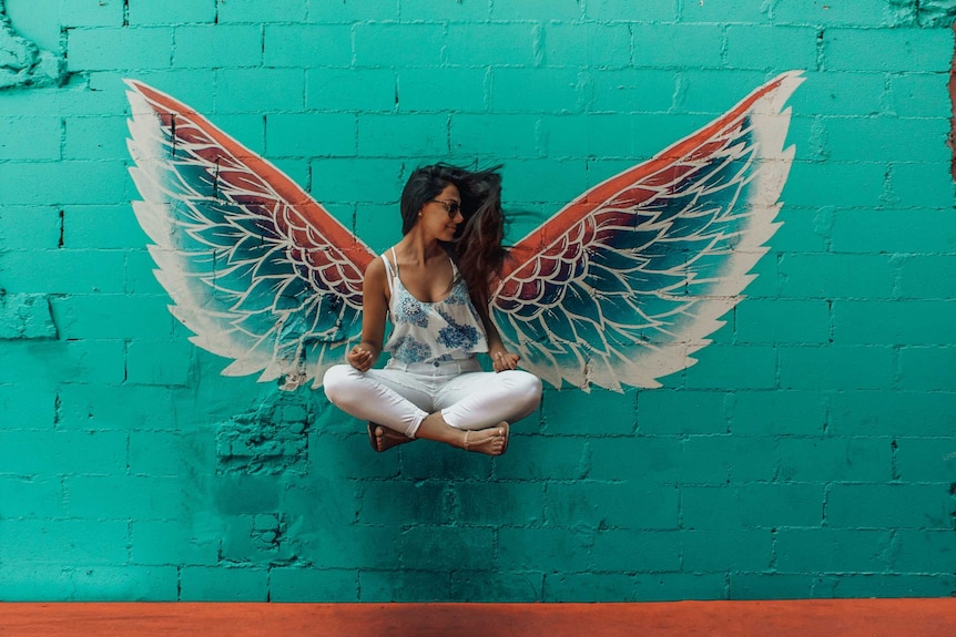
[[[492,316],[522,366],[567,381],[659,387],[690,367],[767,250],[793,146],[785,73],[519,242]]]

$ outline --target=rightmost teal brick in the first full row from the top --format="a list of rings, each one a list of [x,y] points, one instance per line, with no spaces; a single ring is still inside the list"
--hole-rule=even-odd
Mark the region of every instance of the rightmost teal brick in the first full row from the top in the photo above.
[[[827,29],[823,45],[834,71],[945,72],[953,56],[945,29]]]

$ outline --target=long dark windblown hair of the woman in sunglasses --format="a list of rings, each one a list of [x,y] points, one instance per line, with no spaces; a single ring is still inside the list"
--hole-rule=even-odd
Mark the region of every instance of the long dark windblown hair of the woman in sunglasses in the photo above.
[[[486,311],[492,279],[500,274],[507,250],[505,213],[501,209],[501,166],[468,171],[450,164],[424,166],[411,173],[401,191],[401,234],[408,234],[418,220],[421,206],[435,199],[449,185],[461,195],[461,215],[455,240],[446,249],[468,285],[475,304]]]

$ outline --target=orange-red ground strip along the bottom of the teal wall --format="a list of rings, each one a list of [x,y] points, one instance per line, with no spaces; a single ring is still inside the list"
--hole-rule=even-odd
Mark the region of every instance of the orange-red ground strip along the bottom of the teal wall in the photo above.
[[[956,598],[641,604],[0,604],[3,637],[946,637]]]

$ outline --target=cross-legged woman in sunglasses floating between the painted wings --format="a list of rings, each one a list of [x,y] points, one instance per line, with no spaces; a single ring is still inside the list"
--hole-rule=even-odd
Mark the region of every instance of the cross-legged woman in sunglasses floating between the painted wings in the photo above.
[[[323,380],[328,400],[369,421],[373,449],[416,438],[488,455],[533,412],[541,381],[517,370],[488,314],[505,250],[501,177],[447,164],[415,171],[401,193],[403,239],[365,271],[362,343]],[[394,329],[385,369],[386,314]],[[494,372],[476,358],[487,352]]]

